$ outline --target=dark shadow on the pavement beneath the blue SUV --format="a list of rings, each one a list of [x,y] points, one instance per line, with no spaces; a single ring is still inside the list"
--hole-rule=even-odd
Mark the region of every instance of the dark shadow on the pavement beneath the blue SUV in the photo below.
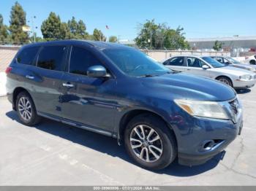
[[[18,114],[16,112],[10,111],[7,112],[6,115],[12,120],[20,122]],[[106,153],[113,157],[119,157],[129,163],[133,163],[125,152],[124,146],[118,146],[116,139],[110,138],[108,136],[102,136],[98,133],[92,133],[88,130],[75,128],[69,125],[65,125],[61,122],[55,122],[53,120],[48,120],[45,118],[42,119],[42,122],[40,122],[39,125],[35,125],[31,128],[37,128],[38,130],[42,130],[54,136],[59,136],[62,139],[67,139],[68,141],[72,141],[84,147],[89,147],[91,149],[95,149],[99,152]],[[219,153],[219,155],[216,155],[207,163],[192,167],[179,165],[178,161],[175,160],[167,168],[161,171],[156,171],[155,173],[168,174],[170,176],[195,176],[197,174],[202,174],[205,171],[209,171],[212,168],[215,168],[219,163],[219,160],[222,160],[223,155],[224,152]]]

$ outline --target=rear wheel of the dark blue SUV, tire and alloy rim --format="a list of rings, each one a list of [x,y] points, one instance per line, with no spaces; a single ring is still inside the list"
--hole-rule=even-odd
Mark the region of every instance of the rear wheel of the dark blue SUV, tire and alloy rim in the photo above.
[[[40,117],[37,115],[36,107],[31,96],[26,92],[21,92],[16,98],[16,110],[18,117],[24,125],[36,125]]]

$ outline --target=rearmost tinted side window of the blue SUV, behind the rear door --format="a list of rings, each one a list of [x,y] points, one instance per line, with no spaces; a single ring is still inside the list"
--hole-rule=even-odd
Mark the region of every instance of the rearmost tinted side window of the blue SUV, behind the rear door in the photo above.
[[[18,63],[32,65],[34,64],[34,58],[37,55],[39,47],[27,47],[21,50],[17,56]]]

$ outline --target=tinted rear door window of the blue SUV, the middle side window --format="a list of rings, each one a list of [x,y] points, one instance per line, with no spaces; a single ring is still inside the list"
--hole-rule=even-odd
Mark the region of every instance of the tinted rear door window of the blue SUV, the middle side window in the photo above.
[[[66,47],[50,46],[43,47],[39,53],[37,66],[42,69],[62,71],[64,68]]]

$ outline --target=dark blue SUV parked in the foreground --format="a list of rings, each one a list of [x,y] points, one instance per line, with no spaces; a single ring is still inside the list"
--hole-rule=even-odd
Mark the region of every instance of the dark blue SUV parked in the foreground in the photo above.
[[[20,49],[7,68],[20,122],[41,117],[124,143],[143,168],[205,163],[241,132],[236,92],[212,79],[166,69],[119,44],[79,40]]]

